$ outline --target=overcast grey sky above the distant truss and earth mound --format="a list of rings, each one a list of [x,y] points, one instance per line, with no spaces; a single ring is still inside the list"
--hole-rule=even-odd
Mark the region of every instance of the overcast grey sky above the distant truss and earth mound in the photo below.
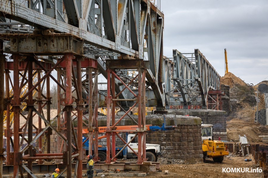
[[[162,0],[163,51],[198,48],[219,75],[228,70],[246,83],[268,80],[267,0]]]

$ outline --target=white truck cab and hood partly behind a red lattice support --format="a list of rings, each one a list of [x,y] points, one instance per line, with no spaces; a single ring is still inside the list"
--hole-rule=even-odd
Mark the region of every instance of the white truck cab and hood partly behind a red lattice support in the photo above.
[[[128,141],[131,140],[134,136],[135,134],[129,134],[127,136],[127,140]],[[138,137],[136,137],[133,141],[131,141],[129,145],[135,152],[138,152]],[[146,144],[146,158],[148,158],[147,161],[156,162],[157,157],[159,155],[162,155],[160,149],[161,147],[158,144]],[[129,147],[127,147],[127,159],[135,157],[137,156],[134,154],[134,152]]]

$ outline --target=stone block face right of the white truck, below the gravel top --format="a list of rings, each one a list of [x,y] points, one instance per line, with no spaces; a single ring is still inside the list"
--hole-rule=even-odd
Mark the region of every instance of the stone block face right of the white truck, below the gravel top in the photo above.
[[[149,131],[146,142],[161,145],[162,157],[202,161],[201,125],[177,125],[175,130]]]

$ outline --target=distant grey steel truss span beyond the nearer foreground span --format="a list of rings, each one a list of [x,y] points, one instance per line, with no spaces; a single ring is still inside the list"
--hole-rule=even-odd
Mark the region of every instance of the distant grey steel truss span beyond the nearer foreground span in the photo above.
[[[164,69],[168,105],[207,108],[208,91],[220,88],[220,75],[198,49],[194,53],[173,50],[173,60],[166,58]]]

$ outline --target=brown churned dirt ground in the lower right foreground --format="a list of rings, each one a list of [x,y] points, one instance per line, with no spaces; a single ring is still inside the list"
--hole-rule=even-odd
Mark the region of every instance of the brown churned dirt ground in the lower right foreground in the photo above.
[[[251,156],[246,157],[247,159],[253,159]],[[254,160],[246,162],[244,157],[225,157],[222,163],[215,163],[211,158],[206,158],[205,163],[196,164],[163,164],[160,165],[162,172],[149,173],[146,177],[148,178],[190,178],[190,177],[206,177],[206,178],[261,178],[263,173],[225,173],[222,172],[222,168],[257,168]],[[168,170],[169,174],[164,175],[164,171]],[[107,177],[107,178],[119,178],[119,177]],[[121,177],[123,178],[123,177]],[[138,178],[138,177],[133,177]]]

